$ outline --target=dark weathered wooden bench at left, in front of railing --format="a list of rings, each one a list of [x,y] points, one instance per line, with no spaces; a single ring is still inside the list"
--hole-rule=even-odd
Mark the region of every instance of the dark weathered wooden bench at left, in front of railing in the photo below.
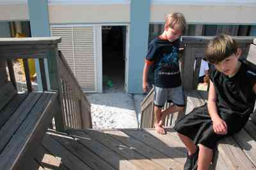
[[[8,65],[8,78],[6,63],[0,58],[0,169],[22,169],[59,107],[58,92],[17,93],[13,68]]]

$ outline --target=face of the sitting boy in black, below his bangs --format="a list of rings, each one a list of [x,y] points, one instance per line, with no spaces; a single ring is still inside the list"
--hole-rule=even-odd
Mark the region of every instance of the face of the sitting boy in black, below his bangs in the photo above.
[[[233,76],[237,72],[238,59],[241,55],[241,50],[237,50],[236,54],[232,54],[228,58],[225,58],[220,63],[214,64],[215,68],[228,76]]]

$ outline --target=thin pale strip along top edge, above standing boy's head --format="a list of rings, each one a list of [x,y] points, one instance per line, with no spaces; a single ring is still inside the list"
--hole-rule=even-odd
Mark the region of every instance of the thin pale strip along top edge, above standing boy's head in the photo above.
[[[152,4],[189,4],[189,5],[253,5],[255,0],[151,0]]]

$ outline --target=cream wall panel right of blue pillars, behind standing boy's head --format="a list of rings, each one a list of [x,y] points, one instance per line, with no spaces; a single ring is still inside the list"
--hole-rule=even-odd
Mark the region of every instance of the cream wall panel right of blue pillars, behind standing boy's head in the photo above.
[[[256,5],[152,4],[150,22],[163,22],[170,12],[184,13],[189,23],[256,24]]]

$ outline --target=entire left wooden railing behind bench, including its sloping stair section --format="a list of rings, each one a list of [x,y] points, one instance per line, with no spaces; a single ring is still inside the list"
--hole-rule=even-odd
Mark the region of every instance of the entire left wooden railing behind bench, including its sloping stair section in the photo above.
[[[58,105],[54,122],[56,130],[66,128],[92,128],[90,104],[82,89],[76,81],[67,61],[58,51],[58,43],[61,38],[4,38],[1,47],[1,59],[6,59],[10,81],[16,87],[13,61],[22,59],[26,75],[28,91],[33,91],[29,74],[28,59],[38,59],[40,65],[40,76],[42,90],[57,90]],[[6,45],[7,42],[8,44]],[[47,75],[45,71],[45,59],[47,59],[49,70],[49,83],[47,87]],[[5,68],[4,68],[5,69]]]

